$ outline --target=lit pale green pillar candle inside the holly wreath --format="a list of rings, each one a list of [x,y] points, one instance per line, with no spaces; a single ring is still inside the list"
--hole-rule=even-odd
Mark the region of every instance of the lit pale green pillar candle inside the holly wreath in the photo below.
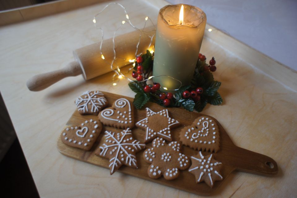
[[[153,76],[166,75],[189,85],[196,67],[204,30],[205,13],[190,5],[168,5],[159,11]],[[154,77],[161,87],[178,89],[172,78]]]

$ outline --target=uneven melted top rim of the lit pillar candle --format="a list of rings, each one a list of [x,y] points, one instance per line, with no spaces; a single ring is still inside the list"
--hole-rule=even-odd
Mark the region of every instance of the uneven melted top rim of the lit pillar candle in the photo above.
[[[194,25],[194,24],[169,24],[168,21],[164,18],[163,12],[168,8],[168,7],[181,7],[181,6],[185,7],[191,7],[196,9],[197,11],[199,11],[202,15],[202,20],[199,24]],[[164,7],[162,7],[159,11],[159,15],[161,16],[161,19],[164,21],[164,23],[171,28],[179,28],[179,29],[183,29],[183,28],[197,28],[200,24],[202,24],[204,22],[204,20],[206,21],[206,14],[204,13],[203,10],[201,10],[199,7],[196,6],[192,6],[192,5],[188,5],[188,4],[183,4],[183,3],[179,3],[179,4],[174,4],[174,5],[166,5]]]

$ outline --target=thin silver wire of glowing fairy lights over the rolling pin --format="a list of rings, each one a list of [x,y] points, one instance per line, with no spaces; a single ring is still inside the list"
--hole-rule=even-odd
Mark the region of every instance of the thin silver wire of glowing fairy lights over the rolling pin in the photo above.
[[[102,35],[102,36],[101,36],[101,43],[100,43],[99,50],[100,50],[101,58],[104,59],[104,60],[105,60],[105,57],[104,57],[104,55],[102,54],[102,44],[103,44],[103,41],[104,41],[104,31],[103,31],[103,29],[102,29],[101,27],[97,27],[97,26],[96,26],[96,17],[97,17],[98,15],[100,15],[100,14],[101,14],[107,7],[109,7],[110,5],[117,5],[117,6],[121,7],[121,8],[124,10],[125,15],[126,15],[126,19],[127,19],[127,20],[123,20],[123,21],[122,21],[122,23],[119,25],[119,27],[114,31],[114,35],[113,35],[113,37],[112,37],[114,57],[113,57],[113,59],[112,59],[112,61],[111,61],[111,63],[110,63],[110,68],[114,71],[114,75],[113,75],[113,77],[112,77],[112,85],[115,86],[115,85],[118,84],[118,82],[119,82],[120,79],[126,79],[126,80],[128,80],[128,81],[130,81],[130,82],[133,82],[133,80],[131,80],[130,78],[126,77],[126,76],[121,72],[121,70],[120,70],[120,68],[119,68],[118,66],[117,66],[117,67],[114,66],[114,60],[116,59],[116,51],[115,51],[115,42],[114,42],[114,39],[115,39],[115,35],[116,35],[116,33],[118,32],[118,30],[122,27],[123,24],[125,24],[126,22],[128,22],[128,24],[131,25],[131,27],[133,27],[133,28],[136,29],[137,31],[140,31],[139,40],[138,40],[138,43],[137,43],[137,45],[136,45],[136,51],[135,51],[135,57],[137,57],[137,56],[140,56],[140,55],[142,54],[142,52],[140,52],[139,54],[137,54],[137,53],[138,53],[138,47],[139,47],[139,44],[140,44],[140,40],[141,40],[141,36],[142,36],[142,34],[143,34],[143,33],[151,33],[151,32],[153,32],[153,31],[156,31],[156,26],[153,24],[153,21],[152,21],[148,16],[146,16],[146,17],[145,17],[145,22],[144,22],[144,27],[143,27],[143,29],[138,29],[136,26],[134,26],[134,25],[131,23],[131,21],[130,21],[130,19],[129,19],[129,16],[128,16],[128,14],[127,14],[127,11],[126,11],[125,7],[123,7],[123,6],[122,6],[121,4],[119,4],[119,3],[115,3],[115,2],[109,3],[109,4],[106,5],[106,6],[105,6],[99,13],[97,13],[97,14],[94,16],[94,18],[93,18],[93,23],[95,24],[95,27],[101,31],[101,35]],[[149,31],[149,32],[144,31],[145,26],[146,26],[146,24],[147,24],[147,20],[150,20],[150,21],[151,21],[151,23],[153,24],[155,30],[153,30],[153,31]],[[149,35],[148,35],[148,36],[149,36]],[[150,43],[149,43],[148,49],[150,48],[150,46],[151,46],[152,43],[153,43],[153,37],[154,37],[154,36],[155,36],[155,33],[154,33],[152,36],[149,36],[149,37],[150,37]],[[151,51],[151,53],[152,53],[152,51]],[[126,59],[125,59],[125,60],[126,60]],[[105,62],[107,63],[106,60],[105,60]],[[133,63],[133,64],[132,64],[133,67],[132,67],[132,68],[129,68],[129,70],[128,70],[127,73],[129,73],[129,71],[130,71],[131,69],[134,68],[134,66],[135,66],[135,59],[133,59],[133,60],[129,60],[129,62],[130,62],[130,63]],[[109,64],[109,63],[107,63],[107,64]],[[151,79],[151,78],[153,78],[153,77],[162,77],[162,76],[166,76],[166,77],[169,77],[169,78],[171,78],[171,79],[173,79],[173,80],[175,80],[175,81],[178,81],[178,82],[180,83],[179,88],[182,86],[182,82],[181,82],[181,81],[179,81],[178,79],[175,79],[174,77],[170,77],[170,76],[167,76],[167,75],[150,76],[150,77],[148,77],[147,79],[145,79],[145,80],[143,80],[143,81],[140,81],[140,82],[148,81],[149,79]],[[115,82],[116,79],[117,79],[117,81]],[[178,89],[167,89],[166,87],[163,87],[163,89],[165,89],[165,90],[179,90],[179,88],[178,88]]]

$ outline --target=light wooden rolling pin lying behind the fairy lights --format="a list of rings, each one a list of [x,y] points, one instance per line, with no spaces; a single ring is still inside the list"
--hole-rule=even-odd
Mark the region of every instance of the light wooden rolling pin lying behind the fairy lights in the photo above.
[[[152,36],[154,27],[148,27],[145,31],[150,32],[148,34]],[[151,40],[148,34],[142,34],[141,41],[138,46],[138,53],[145,52],[147,50],[148,44]],[[127,59],[135,59],[135,51],[136,45],[139,41],[139,35],[139,31],[133,31],[131,33],[115,37],[116,57],[126,58],[126,61],[124,59],[117,60],[117,65],[119,67],[127,65]],[[77,49],[73,51],[75,61],[67,64],[67,66],[62,69],[31,77],[27,81],[27,87],[31,91],[40,91],[66,77],[83,74],[84,79],[89,80],[108,73],[111,71],[110,63],[114,58],[112,38],[103,41],[102,54],[105,59],[101,58],[100,42]]]

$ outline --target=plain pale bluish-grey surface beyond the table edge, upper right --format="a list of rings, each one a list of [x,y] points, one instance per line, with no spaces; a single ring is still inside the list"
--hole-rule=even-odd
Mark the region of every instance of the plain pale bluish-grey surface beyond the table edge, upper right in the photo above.
[[[207,23],[297,70],[297,0],[167,1],[200,7]]]

